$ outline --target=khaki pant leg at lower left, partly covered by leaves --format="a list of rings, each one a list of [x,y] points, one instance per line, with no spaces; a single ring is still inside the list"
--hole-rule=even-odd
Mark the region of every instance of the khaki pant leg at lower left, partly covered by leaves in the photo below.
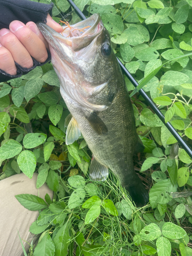
[[[53,198],[53,191],[47,184],[36,188],[37,174],[29,179],[25,174],[16,174],[0,181],[0,256],[22,256],[22,240],[30,242],[34,234],[29,232],[31,224],[37,219],[39,212],[30,211],[22,206],[14,197],[19,194],[32,194],[45,199],[48,193]],[[29,245],[23,241],[26,251]]]

